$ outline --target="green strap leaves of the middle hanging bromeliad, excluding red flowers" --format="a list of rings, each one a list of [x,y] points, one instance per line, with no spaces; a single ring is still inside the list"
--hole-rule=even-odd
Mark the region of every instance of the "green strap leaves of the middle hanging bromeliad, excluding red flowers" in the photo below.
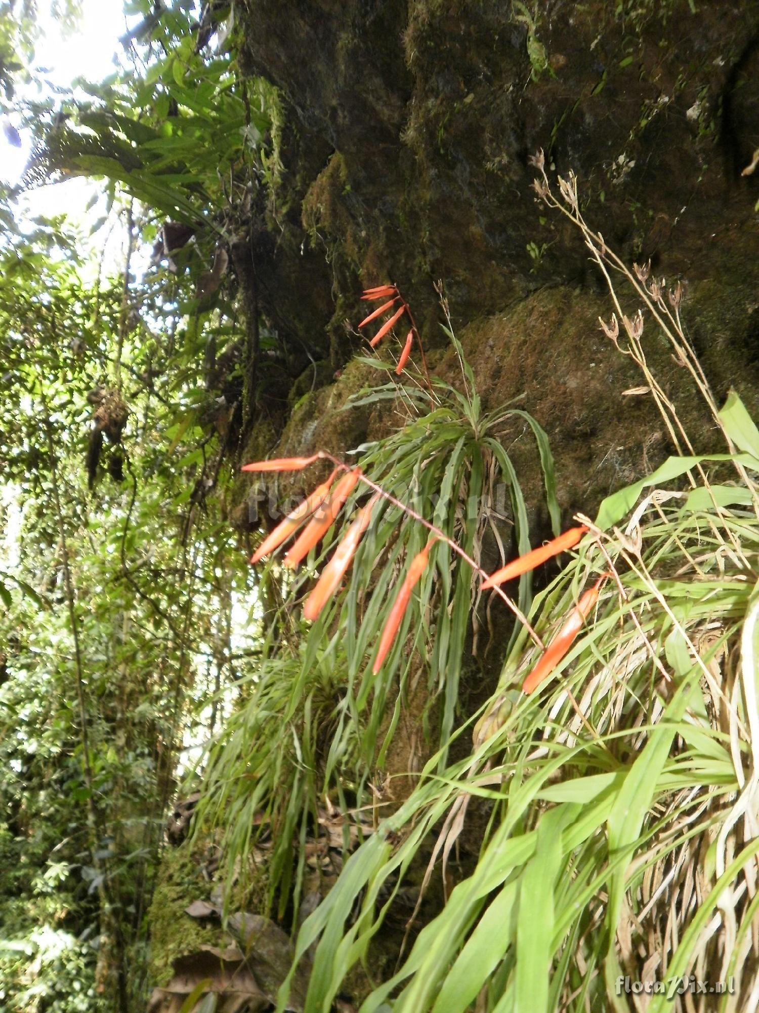
[[[460,345],[452,333],[449,336],[460,357]],[[371,778],[389,764],[398,764],[397,736],[403,737],[398,722],[410,698],[418,701],[415,716],[422,733],[416,754],[410,749],[403,762],[413,769],[428,750],[423,739],[432,738],[441,746],[438,759],[443,770],[467,686],[462,674],[467,668],[478,672],[482,664],[477,657],[486,648],[481,644],[478,651],[477,633],[473,644],[472,628],[473,617],[478,626],[486,625],[477,574],[471,562],[438,541],[408,610],[399,646],[380,674],[372,674],[387,603],[404,567],[429,537],[405,510],[428,519],[470,559],[478,559],[483,542],[501,537],[504,516],[499,508],[510,509],[516,544],[522,551],[528,549],[524,499],[499,439],[526,419],[537,441],[546,498],[558,525],[545,434],[518,408],[485,412],[462,358],[460,364],[466,393],[436,382],[432,410],[421,377],[418,386],[390,383],[354,399],[353,406],[390,398],[403,413],[402,427],[363,447],[359,463],[367,478],[404,509],[392,501],[376,503],[347,594],[330,603],[304,639],[304,624],[288,616],[290,603],[326,561],[339,531],[336,538],[325,538],[303,578],[288,589],[280,613],[269,620],[249,699],[230,717],[210,749],[200,811],[207,823],[224,830],[227,880],[233,881],[233,869],[255,841],[253,828],[266,833],[276,828],[268,884],[270,904],[279,888],[280,917],[290,905],[298,910],[304,855],[293,885],[293,844],[298,836],[302,842],[306,839],[310,819],[318,821],[320,798],[332,798],[345,811],[371,805],[376,790]],[[359,486],[346,506],[348,516],[359,497],[365,501],[366,492]],[[505,501],[499,503],[499,494]],[[526,608],[526,576],[519,600]],[[484,630],[479,636],[487,639]],[[472,650],[475,658],[468,666]],[[282,727],[291,734],[282,735]]]

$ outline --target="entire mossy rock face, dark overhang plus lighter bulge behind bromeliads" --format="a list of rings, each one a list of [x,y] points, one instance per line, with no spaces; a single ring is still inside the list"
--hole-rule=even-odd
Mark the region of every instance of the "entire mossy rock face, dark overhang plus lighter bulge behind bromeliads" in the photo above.
[[[365,348],[364,285],[400,286],[430,363],[452,380],[437,279],[486,400],[523,394],[549,431],[568,514],[668,453],[651,399],[622,394],[642,380],[597,330],[610,305],[579,233],[535,201],[538,148],[552,178],[577,172],[583,213],[626,262],[651,257],[659,276],[683,279],[718,398],[734,378],[751,386],[759,172],[741,172],[759,143],[759,0],[695,6],[246,0],[243,64],[280,96],[283,168],[255,241],[260,305],[290,384],[267,400],[262,381],[258,456],[342,456],[394,424],[387,406],[340,410],[362,369],[346,364]],[[710,422],[660,339],[647,339],[702,444]],[[528,444],[513,453],[539,529]],[[275,503],[317,472],[277,481]]]

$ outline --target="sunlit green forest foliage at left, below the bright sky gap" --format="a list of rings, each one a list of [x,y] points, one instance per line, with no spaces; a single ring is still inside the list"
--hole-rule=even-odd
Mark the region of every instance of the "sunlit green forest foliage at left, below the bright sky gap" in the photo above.
[[[224,440],[194,423],[206,395],[186,353],[130,319],[117,279],[85,283],[72,247],[63,260],[24,240],[3,264],[4,869],[49,897],[26,932],[91,937],[99,897],[123,952],[144,938],[193,686],[236,672],[230,617],[248,574],[212,494],[229,476]],[[14,942],[21,925],[4,919]]]

